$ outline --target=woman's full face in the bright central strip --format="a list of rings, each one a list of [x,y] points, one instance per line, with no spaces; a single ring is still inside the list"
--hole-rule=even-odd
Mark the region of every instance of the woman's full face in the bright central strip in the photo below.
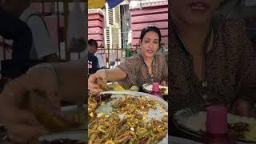
[[[146,58],[154,57],[154,54],[159,48],[159,37],[154,31],[149,31],[144,35],[141,42],[141,52]]]

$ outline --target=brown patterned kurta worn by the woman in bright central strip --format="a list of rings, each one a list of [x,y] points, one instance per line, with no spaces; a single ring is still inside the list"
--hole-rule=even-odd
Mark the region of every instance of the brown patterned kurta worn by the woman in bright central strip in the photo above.
[[[117,66],[126,72],[127,77],[118,82],[120,85],[129,89],[131,86],[141,87],[145,83],[167,81],[168,67],[166,59],[162,55],[154,54],[154,62],[152,66],[152,75],[143,61],[142,54],[136,54],[127,58]]]

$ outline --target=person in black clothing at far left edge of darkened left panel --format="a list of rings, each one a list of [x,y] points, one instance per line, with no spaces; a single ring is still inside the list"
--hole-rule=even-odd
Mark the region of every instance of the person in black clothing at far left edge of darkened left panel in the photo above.
[[[6,70],[6,77],[16,78],[26,72],[26,62],[29,59],[30,47],[32,46],[32,33],[25,22],[16,18],[14,14],[3,10],[1,6],[0,35],[3,38],[13,40],[12,59],[10,69]]]

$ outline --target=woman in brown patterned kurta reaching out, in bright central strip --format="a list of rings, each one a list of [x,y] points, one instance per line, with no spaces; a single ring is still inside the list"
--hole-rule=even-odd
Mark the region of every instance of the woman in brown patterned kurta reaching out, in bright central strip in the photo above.
[[[156,54],[161,43],[161,33],[156,26],[147,26],[142,30],[141,53],[127,58],[110,70],[98,70],[90,75],[88,86],[92,94],[103,90],[96,84],[97,78],[105,82],[119,82],[126,89],[142,86],[150,82],[164,82],[167,78],[167,65],[164,57]]]

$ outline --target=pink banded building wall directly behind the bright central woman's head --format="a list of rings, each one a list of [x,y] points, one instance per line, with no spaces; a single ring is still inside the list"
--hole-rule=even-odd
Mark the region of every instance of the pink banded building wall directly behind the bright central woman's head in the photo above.
[[[161,30],[162,45],[168,46],[168,2],[142,3],[142,8],[130,8],[132,45],[138,46],[141,31],[146,26],[157,26]]]

